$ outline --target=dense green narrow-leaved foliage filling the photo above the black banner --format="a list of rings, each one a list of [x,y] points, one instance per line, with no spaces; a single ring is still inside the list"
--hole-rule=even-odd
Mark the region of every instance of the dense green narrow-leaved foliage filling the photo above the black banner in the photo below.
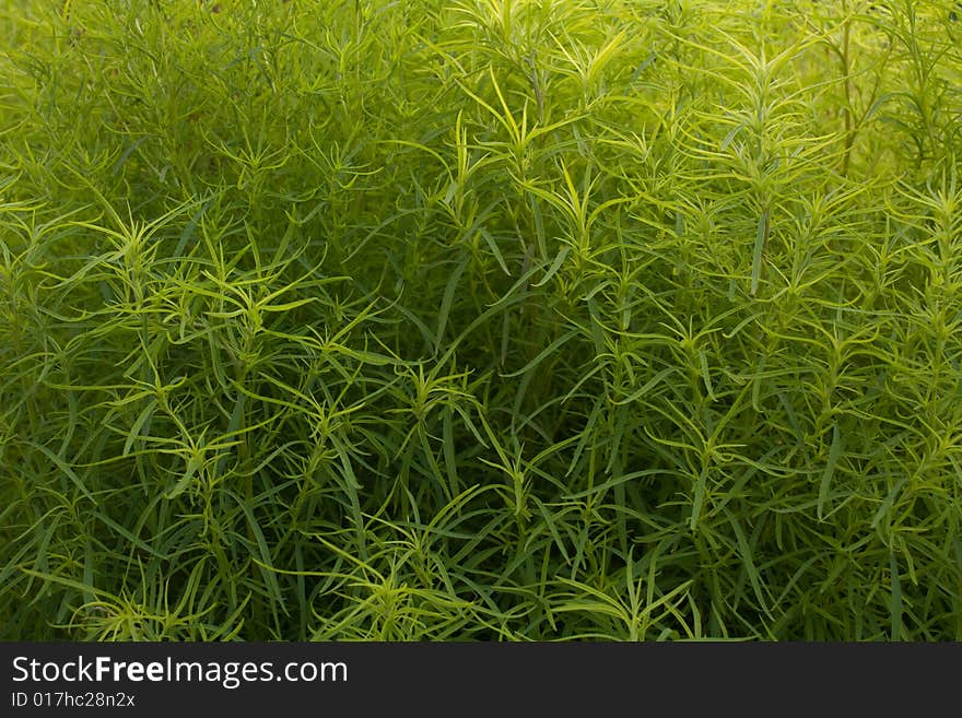
[[[962,639],[954,2],[52,4],[0,637]]]

